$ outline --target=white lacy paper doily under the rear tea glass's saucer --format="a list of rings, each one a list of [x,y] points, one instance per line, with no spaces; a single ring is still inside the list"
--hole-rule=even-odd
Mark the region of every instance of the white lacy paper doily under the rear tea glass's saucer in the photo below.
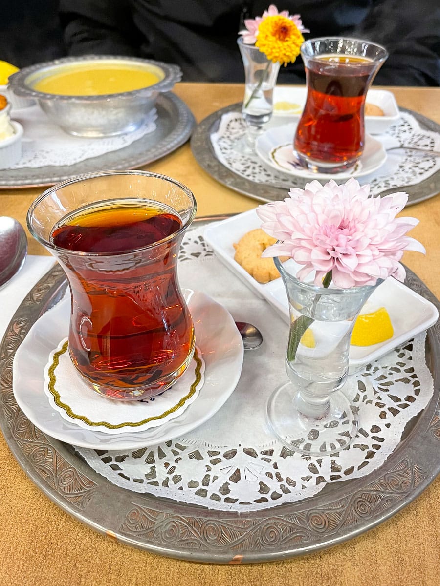
[[[275,121],[270,124],[275,125]],[[289,189],[304,186],[304,178],[277,172],[265,165],[256,153],[252,156],[238,154],[234,145],[243,132],[245,122],[241,113],[229,112],[222,115],[218,131],[211,135],[211,142],[216,157],[223,165],[255,183],[286,189],[286,197]],[[388,128],[384,134],[374,135],[374,138],[384,145],[385,150],[400,145],[440,150],[440,135],[423,130],[414,116],[405,112],[401,113],[400,121],[395,126]],[[358,179],[361,185],[370,183],[373,195],[402,185],[417,185],[440,169],[440,158],[434,155],[400,150],[390,151],[387,155],[387,161],[380,169]]]

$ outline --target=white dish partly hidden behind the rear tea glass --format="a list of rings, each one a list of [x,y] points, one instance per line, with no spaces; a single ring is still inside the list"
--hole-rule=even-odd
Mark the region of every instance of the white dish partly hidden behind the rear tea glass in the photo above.
[[[272,124],[279,124],[281,120],[287,119],[290,122],[299,120],[306,96],[305,87],[276,86],[273,91]],[[399,120],[399,108],[391,91],[368,90],[366,101],[380,107],[384,112],[383,116],[365,116],[365,130],[369,134],[381,134]]]

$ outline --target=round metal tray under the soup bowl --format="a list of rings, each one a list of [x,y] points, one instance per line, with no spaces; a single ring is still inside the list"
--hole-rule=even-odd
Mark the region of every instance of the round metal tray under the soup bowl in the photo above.
[[[187,105],[171,92],[158,96],[156,110],[156,129],[128,147],[74,165],[6,169],[1,172],[0,189],[53,185],[82,173],[103,169],[134,169],[157,161],[188,140],[195,120]]]

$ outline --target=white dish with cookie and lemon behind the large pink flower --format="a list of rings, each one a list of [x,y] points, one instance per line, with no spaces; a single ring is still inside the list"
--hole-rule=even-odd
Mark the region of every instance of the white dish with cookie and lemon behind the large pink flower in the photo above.
[[[253,293],[266,299],[286,323],[289,323],[289,306],[281,278],[261,284],[233,258],[235,254],[233,244],[237,243],[249,230],[259,228],[260,224],[261,220],[253,209],[207,226],[204,237],[226,267],[245,282]],[[292,259],[286,262],[291,267],[296,265]],[[394,335],[385,342],[371,346],[350,346],[350,366],[352,367],[363,366],[385,355],[394,347],[434,325],[438,319],[438,311],[434,304],[392,277],[385,280],[374,291],[368,300],[368,305],[387,309]]]

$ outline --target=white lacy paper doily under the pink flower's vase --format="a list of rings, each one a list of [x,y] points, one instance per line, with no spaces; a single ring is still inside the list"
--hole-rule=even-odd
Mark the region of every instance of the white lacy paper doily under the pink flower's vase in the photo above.
[[[381,466],[433,393],[425,333],[350,378],[346,393],[361,421],[353,445],[335,456],[300,455],[274,440],[265,423],[269,394],[287,380],[288,326],[221,264],[201,229],[188,232],[180,261],[182,287],[212,295],[236,320],[255,323],[265,341],[246,352],[238,386],[207,423],[185,437],[131,452],[78,448],[87,463],[129,490],[243,512],[304,499],[326,483],[358,478]]]

